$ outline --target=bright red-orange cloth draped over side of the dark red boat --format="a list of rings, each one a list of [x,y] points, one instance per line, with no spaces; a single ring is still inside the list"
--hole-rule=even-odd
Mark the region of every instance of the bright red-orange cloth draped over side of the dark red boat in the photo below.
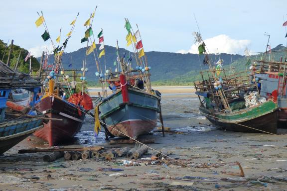
[[[82,95],[82,92],[71,95],[68,101],[75,105],[82,105],[86,110],[91,110],[94,108],[92,98],[85,93]]]

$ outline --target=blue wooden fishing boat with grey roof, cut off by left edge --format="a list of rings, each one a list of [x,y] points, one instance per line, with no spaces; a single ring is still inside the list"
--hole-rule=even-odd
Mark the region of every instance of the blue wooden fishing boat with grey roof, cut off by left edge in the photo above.
[[[29,115],[7,111],[8,95],[14,89],[25,89],[33,93],[31,105],[35,103],[41,83],[29,75],[15,72],[0,61],[0,154],[43,127],[42,114],[29,109]],[[13,103],[15,104],[15,103]],[[19,107],[23,107],[20,106]],[[33,115],[33,116],[31,116]],[[29,117],[28,117],[29,116]]]

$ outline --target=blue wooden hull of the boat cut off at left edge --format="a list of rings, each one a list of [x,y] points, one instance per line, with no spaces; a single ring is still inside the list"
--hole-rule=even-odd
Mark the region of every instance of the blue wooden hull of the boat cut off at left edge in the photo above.
[[[21,117],[4,120],[0,123],[0,154],[42,127],[43,120],[37,118]]]

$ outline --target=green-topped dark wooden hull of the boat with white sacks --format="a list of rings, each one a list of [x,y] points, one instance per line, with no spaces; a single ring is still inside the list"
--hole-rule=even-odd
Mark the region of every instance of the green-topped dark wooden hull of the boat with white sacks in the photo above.
[[[277,133],[277,105],[272,101],[233,113],[211,113],[203,106],[199,110],[215,127],[222,130]]]

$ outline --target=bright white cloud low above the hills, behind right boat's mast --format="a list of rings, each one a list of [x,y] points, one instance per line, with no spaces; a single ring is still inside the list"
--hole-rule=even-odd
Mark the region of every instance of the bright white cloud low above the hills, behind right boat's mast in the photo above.
[[[205,39],[204,43],[209,53],[243,54],[245,48],[250,44],[250,40],[235,40],[225,34],[221,34]],[[198,54],[198,44],[193,44],[189,50],[179,50],[177,53]]]

